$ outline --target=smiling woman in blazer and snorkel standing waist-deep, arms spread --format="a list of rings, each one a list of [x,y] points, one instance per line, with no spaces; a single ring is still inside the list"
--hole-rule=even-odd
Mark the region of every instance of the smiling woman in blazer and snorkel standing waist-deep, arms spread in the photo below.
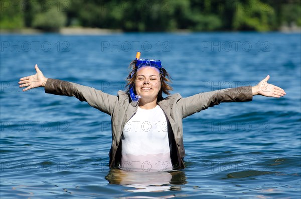
[[[130,65],[127,92],[117,96],[79,84],[36,74],[20,79],[23,91],[45,87],[46,93],[74,96],[111,116],[112,145],[109,166],[130,171],[167,171],[185,168],[182,119],[221,102],[251,101],[253,95],[281,97],[283,89],[268,84],[269,75],[256,86],[200,93],[182,98],[169,94],[169,74],[160,60],[136,59]]]

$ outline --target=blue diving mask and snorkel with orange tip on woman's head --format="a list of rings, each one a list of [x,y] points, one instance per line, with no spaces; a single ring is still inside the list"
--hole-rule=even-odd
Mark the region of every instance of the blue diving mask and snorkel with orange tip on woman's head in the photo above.
[[[162,66],[160,60],[153,60],[153,59],[140,59],[141,53],[137,52],[136,54],[136,69],[139,70],[140,68],[144,66],[154,67],[158,69],[159,73],[162,73]],[[132,78],[134,75],[134,72],[131,73],[130,77]],[[139,99],[141,96],[135,95],[133,85],[130,86],[129,89],[130,98],[133,102],[139,103]]]

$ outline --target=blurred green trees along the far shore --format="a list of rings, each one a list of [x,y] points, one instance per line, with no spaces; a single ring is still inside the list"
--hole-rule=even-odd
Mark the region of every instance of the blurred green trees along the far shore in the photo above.
[[[301,26],[301,0],[2,0],[1,29],[275,31]]]

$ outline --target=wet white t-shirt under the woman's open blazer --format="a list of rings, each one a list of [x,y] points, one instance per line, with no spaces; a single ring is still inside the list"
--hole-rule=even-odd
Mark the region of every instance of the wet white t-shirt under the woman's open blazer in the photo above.
[[[172,170],[167,121],[160,106],[138,107],[122,134],[121,169],[128,171]]]

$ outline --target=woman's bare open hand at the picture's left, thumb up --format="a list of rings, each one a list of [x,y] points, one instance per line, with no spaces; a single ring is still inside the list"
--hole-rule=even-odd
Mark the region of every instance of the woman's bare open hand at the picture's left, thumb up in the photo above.
[[[20,78],[20,82],[18,82],[18,84],[20,84],[19,87],[27,86],[22,91],[27,91],[32,88],[45,86],[48,78],[44,77],[42,71],[40,71],[37,64],[35,65],[35,69],[37,71],[37,73],[35,75]]]

